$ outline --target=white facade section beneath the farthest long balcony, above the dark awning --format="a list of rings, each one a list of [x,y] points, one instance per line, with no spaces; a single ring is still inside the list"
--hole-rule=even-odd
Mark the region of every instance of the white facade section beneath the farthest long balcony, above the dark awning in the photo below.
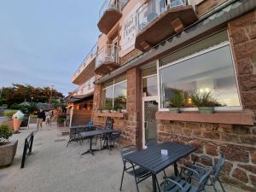
[[[76,98],[83,98],[84,96],[90,96],[94,91],[95,77],[90,78],[84,84],[81,84],[78,89],[73,91],[73,96]]]

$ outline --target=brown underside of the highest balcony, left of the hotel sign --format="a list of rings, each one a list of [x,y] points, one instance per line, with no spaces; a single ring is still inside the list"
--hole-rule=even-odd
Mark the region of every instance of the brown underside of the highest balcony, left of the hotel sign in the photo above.
[[[122,13],[117,9],[108,9],[102,15],[102,18],[98,22],[98,28],[100,32],[108,34],[117,21],[122,17]]]

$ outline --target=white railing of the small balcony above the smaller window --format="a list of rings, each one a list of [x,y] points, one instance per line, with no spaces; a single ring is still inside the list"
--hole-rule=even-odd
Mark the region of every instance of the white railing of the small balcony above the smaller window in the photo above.
[[[106,44],[96,54],[96,67],[102,65],[103,62],[119,63],[119,47],[113,44]]]

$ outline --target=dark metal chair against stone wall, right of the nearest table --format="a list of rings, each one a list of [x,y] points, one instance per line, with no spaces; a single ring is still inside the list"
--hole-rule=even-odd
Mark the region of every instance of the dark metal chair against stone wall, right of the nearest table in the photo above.
[[[209,169],[209,167],[207,166],[202,166],[201,164],[199,164],[196,160],[199,159],[204,159],[207,160],[206,157],[201,156],[198,157],[197,159],[194,160],[193,164],[189,164],[189,165],[185,165],[182,169],[181,169],[181,174],[187,177],[187,180],[190,182],[191,179],[194,179],[195,181],[199,181],[200,178],[202,177],[203,174],[203,169]],[[223,183],[221,183],[220,179],[219,179],[219,174],[224,166],[225,163],[225,156],[223,153],[219,154],[218,157],[218,162],[216,164],[212,165],[212,172],[211,172],[211,176],[209,177],[210,179],[210,183],[208,182],[207,185],[208,186],[212,186],[214,191],[217,192],[216,189],[216,182],[218,181],[218,183],[220,184],[221,188],[224,190],[224,186]],[[189,168],[189,169],[188,169]],[[194,170],[196,172],[199,173],[199,175],[195,174],[194,172],[191,172],[189,170]]]

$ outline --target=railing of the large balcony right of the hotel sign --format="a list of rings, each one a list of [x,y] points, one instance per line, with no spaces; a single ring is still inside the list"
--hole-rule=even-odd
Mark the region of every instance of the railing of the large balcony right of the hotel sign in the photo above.
[[[159,15],[178,6],[187,5],[187,0],[150,0],[137,10],[137,32],[141,32]]]

